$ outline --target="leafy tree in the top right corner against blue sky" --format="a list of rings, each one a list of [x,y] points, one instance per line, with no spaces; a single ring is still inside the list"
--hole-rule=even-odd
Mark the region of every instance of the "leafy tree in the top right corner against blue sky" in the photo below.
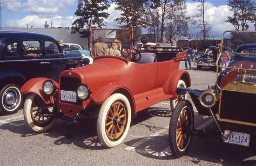
[[[248,23],[253,23],[255,17],[255,2],[251,0],[229,0],[228,9],[232,16],[228,16],[226,23],[230,23],[237,31],[248,30]]]

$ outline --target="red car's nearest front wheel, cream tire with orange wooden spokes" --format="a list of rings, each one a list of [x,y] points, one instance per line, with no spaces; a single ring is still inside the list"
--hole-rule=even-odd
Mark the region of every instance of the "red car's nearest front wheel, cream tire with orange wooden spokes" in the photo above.
[[[103,103],[97,120],[97,133],[104,146],[112,148],[123,142],[131,123],[129,100],[114,93]]]

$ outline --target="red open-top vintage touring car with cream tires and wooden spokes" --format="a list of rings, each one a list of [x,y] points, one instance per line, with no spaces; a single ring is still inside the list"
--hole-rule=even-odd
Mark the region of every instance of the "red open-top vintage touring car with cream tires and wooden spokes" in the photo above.
[[[99,140],[114,147],[125,139],[137,112],[166,99],[175,101],[176,87],[189,87],[190,75],[178,71],[185,52],[140,53],[132,48],[131,29],[95,28],[90,34],[93,64],[63,71],[58,82],[35,78],[22,86],[24,119],[32,131],[44,132],[58,118],[79,123],[98,117]],[[115,42],[120,56],[96,56]]]

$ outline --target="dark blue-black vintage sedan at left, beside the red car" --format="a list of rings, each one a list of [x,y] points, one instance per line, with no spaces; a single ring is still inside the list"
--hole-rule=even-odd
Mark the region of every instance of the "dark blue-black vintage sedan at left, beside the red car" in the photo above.
[[[19,88],[35,77],[57,81],[61,71],[81,66],[79,52],[63,53],[57,40],[28,32],[0,32],[0,111],[17,112],[23,103]]]

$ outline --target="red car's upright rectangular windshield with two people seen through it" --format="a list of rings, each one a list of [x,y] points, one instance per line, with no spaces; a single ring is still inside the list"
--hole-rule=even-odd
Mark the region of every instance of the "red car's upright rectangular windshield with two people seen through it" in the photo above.
[[[90,36],[91,56],[118,56],[129,58],[132,49],[130,29],[92,28]]]

